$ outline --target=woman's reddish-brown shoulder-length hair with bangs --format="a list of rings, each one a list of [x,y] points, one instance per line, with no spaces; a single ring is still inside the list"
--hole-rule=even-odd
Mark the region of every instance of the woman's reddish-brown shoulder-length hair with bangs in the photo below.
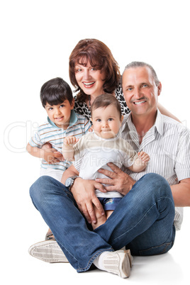
[[[79,94],[77,94],[78,101],[85,101],[86,94],[77,84],[74,66],[76,64],[85,66],[88,60],[92,67],[105,72],[104,92],[112,94],[121,79],[118,62],[116,62],[111,50],[104,43],[96,39],[80,40],[69,57],[69,78],[76,88],[74,91],[79,91]]]

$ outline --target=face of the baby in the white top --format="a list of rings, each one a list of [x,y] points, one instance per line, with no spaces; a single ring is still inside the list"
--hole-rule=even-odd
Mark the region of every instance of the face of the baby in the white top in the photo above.
[[[123,118],[120,118],[118,110],[114,105],[109,105],[106,108],[96,108],[92,112],[92,123],[94,132],[101,138],[114,138]]]

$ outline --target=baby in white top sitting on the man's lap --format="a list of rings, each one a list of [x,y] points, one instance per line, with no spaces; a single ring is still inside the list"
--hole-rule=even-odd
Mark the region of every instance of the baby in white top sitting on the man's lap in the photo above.
[[[129,143],[117,137],[123,121],[118,100],[111,94],[98,96],[91,106],[91,116],[94,133],[84,135],[78,143],[74,137],[64,139],[63,155],[69,160],[74,160],[69,169],[83,179],[104,178],[98,170],[111,170],[108,162],[113,162],[120,168],[124,164],[133,172],[143,171],[150,160],[149,155],[145,152],[137,154]],[[94,229],[106,222],[123,197],[117,191],[102,193],[99,190],[96,190],[96,196],[104,206],[106,216],[101,216],[95,209],[97,223],[92,224]]]

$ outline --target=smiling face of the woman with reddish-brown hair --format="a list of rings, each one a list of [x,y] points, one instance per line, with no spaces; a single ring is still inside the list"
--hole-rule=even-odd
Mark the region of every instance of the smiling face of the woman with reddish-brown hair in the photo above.
[[[77,83],[85,94],[99,96],[104,93],[105,72],[91,67],[89,61],[85,66],[77,63],[74,66],[74,72]]]

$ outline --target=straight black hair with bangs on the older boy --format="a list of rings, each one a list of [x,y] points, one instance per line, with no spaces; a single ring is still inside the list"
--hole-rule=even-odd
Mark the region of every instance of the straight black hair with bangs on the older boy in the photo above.
[[[53,106],[61,104],[65,100],[68,100],[69,104],[72,104],[72,89],[60,77],[50,79],[41,87],[40,99],[44,108],[47,103]]]

